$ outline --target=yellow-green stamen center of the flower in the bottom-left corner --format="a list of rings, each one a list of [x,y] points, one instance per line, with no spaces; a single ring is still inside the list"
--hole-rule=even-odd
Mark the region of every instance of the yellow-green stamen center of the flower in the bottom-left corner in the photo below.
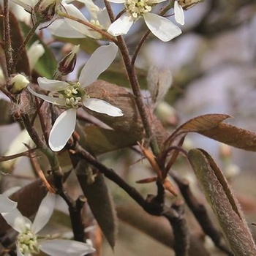
[[[40,246],[37,236],[31,233],[31,230],[20,233],[18,235],[18,249],[23,255],[38,254]]]

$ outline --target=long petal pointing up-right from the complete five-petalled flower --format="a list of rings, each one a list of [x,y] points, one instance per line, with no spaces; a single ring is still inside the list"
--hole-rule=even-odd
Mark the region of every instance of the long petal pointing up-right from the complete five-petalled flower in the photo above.
[[[79,82],[82,87],[89,86],[97,80],[103,71],[108,69],[116,58],[117,50],[117,46],[110,42],[109,45],[103,45],[92,53],[91,58],[86,62],[80,73]]]

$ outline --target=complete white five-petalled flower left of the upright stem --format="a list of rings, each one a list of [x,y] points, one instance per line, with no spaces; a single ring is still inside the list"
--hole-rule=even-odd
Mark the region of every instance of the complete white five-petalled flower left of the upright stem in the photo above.
[[[74,132],[76,122],[76,110],[85,106],[98,113],[105,113],[108,116],[123,116],[119,108],[110,105],[102,99],[90,98],[84,88],[89,86],[98,76],[107,69],[116,58],[117,46],[110,42],[110,45],[99,47],[83,67],[77,83],[64,82],[38,78],[39,86],[50,91],[49,96],[37,94],[31,88],[29,91],[35,96],[47,102],[67,108],[66,111],[56,119],[50,131],[49,146],[53,151],[60,151]]]

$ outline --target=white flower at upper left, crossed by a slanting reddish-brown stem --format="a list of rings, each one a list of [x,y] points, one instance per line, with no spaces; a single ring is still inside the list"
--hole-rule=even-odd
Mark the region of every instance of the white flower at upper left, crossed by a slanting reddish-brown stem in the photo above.
[[[72,2],[66,1],[66,3]],[[100,9],[91,0],[79,0],[81,3],[85,4],[86,9],[89,11],[91,16],[90,20],[87,20],[78,8],[73,4],[62,4],[64,12],[68,15],[72,15],[80,20],[84,20],[87,23],[91,23],[97,26],[99,29],[107,30],[110,26],[110,18],[108,16],[108,11],[106,8]],[[101,39],[102,35],[99,32],[90,29],[88,26],[79,23],[75,20],[68,18],[55,20],[50,26],[48,26],[50,32],[56,37],[68,37],[68,38],[83,38],[91,37],[94,39]]]

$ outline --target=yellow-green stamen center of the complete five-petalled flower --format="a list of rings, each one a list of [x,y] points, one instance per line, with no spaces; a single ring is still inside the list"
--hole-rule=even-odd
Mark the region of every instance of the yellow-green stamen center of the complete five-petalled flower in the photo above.
[[[78,108],[82,105],[83,97],[89,97],[86,91],[80,86],[80,83],[69,83],[64,91],[59,91],[59,98],[65,99],[67,108]]]

